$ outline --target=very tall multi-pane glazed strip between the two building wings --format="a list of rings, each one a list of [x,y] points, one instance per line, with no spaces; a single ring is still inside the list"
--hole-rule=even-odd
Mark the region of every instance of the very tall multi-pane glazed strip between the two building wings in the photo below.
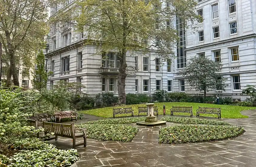
[[[176,17],[176,30],[178,31],[179,42],[177,42],[177,69],[187,66],[186,57],[186,33],[183,20]]]

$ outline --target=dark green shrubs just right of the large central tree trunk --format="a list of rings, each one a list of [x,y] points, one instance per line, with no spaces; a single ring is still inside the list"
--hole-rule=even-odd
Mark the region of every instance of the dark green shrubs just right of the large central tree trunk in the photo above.
[[[139,103],[148,103],[148,102],[149,102],[149,96],[145,94],[128,93],[126,95],[126,104],[139,104]]]

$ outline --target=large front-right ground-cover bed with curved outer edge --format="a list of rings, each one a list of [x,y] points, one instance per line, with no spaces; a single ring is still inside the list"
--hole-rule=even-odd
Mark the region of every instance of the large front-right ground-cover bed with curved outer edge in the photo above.
[[[159,130],[158,143],[180,144],[222,140],[237,137],[244,132],[241,126],[169,126]]]

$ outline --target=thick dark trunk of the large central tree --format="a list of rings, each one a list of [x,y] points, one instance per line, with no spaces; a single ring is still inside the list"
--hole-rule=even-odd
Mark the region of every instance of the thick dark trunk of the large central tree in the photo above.
[[[126,95],[125,95],[125,79],[126,79],[126,52],[122,52],[122,60],[119,67],[118,75],[118,104],[126,104]]]

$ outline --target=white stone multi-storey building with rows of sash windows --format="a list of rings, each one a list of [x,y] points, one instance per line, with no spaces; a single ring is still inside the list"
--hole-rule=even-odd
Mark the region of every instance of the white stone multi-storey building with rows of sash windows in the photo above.
[[[178,19],[174,21],[182,47],[176,49],[177,58],[172,64],[162,65],[154,50],[146,55],[127,54],[128,66],[137,71],[127,76],[126,93],[153,94],[156,89],[199,93],[190,90],[180,74],[186,62],[195,55],[222,62],[221,73],[229,78],[225,93],[240,93],[246,84],[256,85],[255,0],[199,0],[195,12],[204,18],[196,31],[185,30]],[[54,74],[49,78],[48,87],[56,81],[66,80],[86,86],[82,91],[90,95],[118,93],[115,76],[119,61],[113,52],[107,53],[108,60],[102,60],[94,46],[82,45],[83,35],[76,34],[71,27],[65,32],[59,32],[56,27],[52,30],[47,57],[48,70]]]

